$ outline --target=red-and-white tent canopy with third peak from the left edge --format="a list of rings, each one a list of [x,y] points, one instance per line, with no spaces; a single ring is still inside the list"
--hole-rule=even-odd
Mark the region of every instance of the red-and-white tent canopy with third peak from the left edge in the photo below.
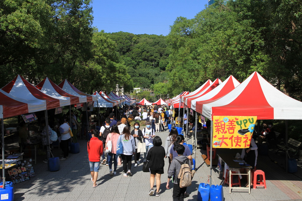
[[[50,96],[56,97],[58,99],[61,99],[61,98],[66,99],[66,101],[64,103],[63,103],[63,101],[60,100],[61,106],[74,105],[74,104],[80,103],[78,96],[73,96],[69,93],[66,93],[58,85],[53,83],[53,81],[51,81],[48,77],[46,77],[44,80],[42,80],[42,82],[37,84],[36,88]]]

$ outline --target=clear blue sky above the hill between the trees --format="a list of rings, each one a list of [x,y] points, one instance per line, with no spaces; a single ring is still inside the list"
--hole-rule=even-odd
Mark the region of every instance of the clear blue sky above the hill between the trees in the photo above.
[[[176,17],[188,19],[204,9],[207,0],[94,0],[93,26],[106,33],[168,35]]]

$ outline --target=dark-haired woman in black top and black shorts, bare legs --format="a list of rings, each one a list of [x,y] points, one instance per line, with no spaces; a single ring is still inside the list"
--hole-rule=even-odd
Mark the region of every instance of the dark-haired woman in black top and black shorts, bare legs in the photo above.
[[[149,195],[153,195],[154,190],[154,180],[156,177],[156,194],[159,196],[160,189],[160,176],[164,174],[165,166],[165,148],[162,145],[162,139],[159,136],[155,136],[153,139],[153,147],[151,147],[147,153],[147,161],[149,161],[149,171],[150,171],[150,191]]]

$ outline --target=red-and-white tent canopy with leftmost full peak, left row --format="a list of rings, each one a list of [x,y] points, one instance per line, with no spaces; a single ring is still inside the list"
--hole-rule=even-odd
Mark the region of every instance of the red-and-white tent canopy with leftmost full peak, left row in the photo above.
[[[33,101],[43,100],[46,103],[46,108],[43,107],[40,110],[61,107],[60,100],[63,100],[63,102],[66,101],[66,99],[57,99],[56,97],[43,93],[20,75],[16,76],[10,83],[5,85],[2,90],[21,99]]]

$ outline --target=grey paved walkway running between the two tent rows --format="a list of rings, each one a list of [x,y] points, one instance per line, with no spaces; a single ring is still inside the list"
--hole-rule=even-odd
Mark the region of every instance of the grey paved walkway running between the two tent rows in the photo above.
[[[156,133],[162,140],[168,136],[168,132]],[[191,141],[189,141],[190,143]],[[36,177],[31,180],[15,184],[15,200],[172,200],[172,189],[165,188],[167,181],[168,159],[165,159],[165,174],[161,177],[161,195],[159,197],[149,196],[149,173],[142,172],[143,158],[137,168],[132,165],[131,177],[122,175],[122,166],[118,166],[117,175],[109,176],[108,166],[101,165],[98,174],[98,184],[92,188],[90,181],[90,169],[88,164],[87,142],[79,140],[81,152],[70,154],[69,159],[61,161],[59,171],[47,171],[47,164],[43,163],[42,156],[38,158],[37,165],[34,165]],[[197,150],[196,167],[197,171],[193,178],[192,185],[188,187],[190,194],[185,200],[197,200],[198,186],[208,179],[210,168],[207,167],[201,158],[200,149]],[[241,150],[240,150],[241,152]],[[55,155],[60,155],[61,151],[54,149]],[[44,156],[45,157],[45,156]],[[229,194],[229,188],[223,186],[225,200],[290,200],[302,199],[302,182],[294,174],[285,171],[265,156],[259,156],[258,169],[265,171],[267,189],[257,188],[251,190],[233,190]],[[221,184],[218,172],[213,171],[212,184]],[[173,185],[170,185],[171,187]],[[154,186],[156,189],[156,186]]]

